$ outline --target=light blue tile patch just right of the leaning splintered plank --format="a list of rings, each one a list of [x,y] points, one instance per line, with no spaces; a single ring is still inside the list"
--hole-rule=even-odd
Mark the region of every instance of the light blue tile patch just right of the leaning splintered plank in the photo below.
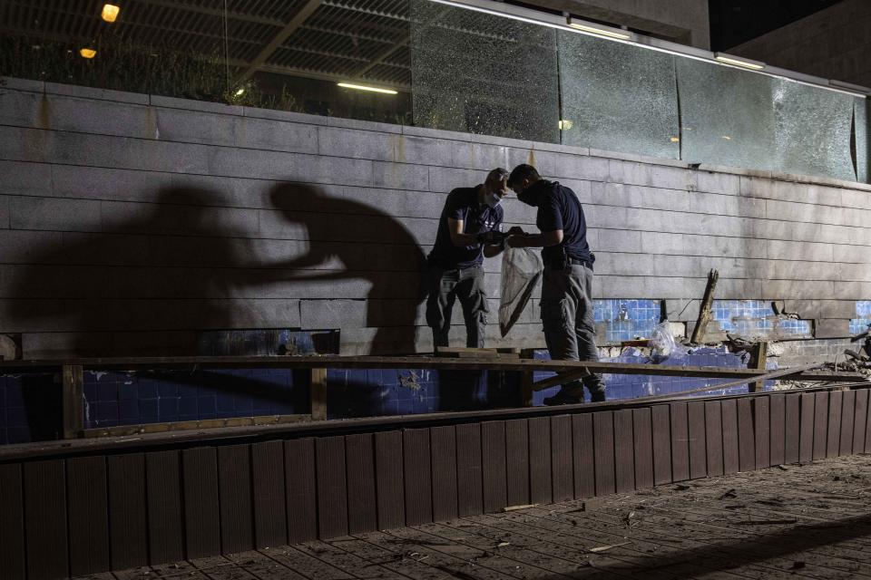
[[[809,320],[795,320],[774,314],[764,300],[714,300],[714,320],[723,331],[746,337],[811,336]]]

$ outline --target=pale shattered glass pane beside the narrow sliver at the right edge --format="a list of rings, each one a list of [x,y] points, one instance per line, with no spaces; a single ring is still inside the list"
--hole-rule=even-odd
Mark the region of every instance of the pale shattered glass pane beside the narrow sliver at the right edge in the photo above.
[[[855,181],[850,155],[854,97],[786,79],[772,81],[775,169]]]

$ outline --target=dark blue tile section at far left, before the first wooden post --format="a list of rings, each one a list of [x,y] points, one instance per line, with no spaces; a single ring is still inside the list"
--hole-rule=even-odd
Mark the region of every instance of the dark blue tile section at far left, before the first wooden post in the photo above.
[[[62,424],[58,373],[0,376],[0,444],[59,439]]]

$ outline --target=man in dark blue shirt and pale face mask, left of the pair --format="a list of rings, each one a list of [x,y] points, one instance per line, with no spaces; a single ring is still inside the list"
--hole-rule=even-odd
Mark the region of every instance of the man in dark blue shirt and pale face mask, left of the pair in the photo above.
[[[426,258],[426,324],[433,329],[436,350],[448,345],[456,298],[463,306],[466,346],[484,347],[489,309],[482,264],[484,256],[502,252],[503,210],[499,203],[507,191],[507,179],[507,170],[494,169],[483,184],[454,189],[447,196],[435,246]]]

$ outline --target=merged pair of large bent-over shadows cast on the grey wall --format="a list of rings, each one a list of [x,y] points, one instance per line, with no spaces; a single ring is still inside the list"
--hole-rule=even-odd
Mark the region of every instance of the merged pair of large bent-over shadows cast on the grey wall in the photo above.
[[[304,228],[296,241],[259,239],[257,210],[232,208],[210,189],[166,188],[151,203],[107,202],[111,221],[88,227],[98,231],[54,232],[49,244],[21,248],[15,262],[27,266],[14,269],[3,330],[29,334],[24,346],[32,353],[187,355],[196,353],[198,331],[292,328],[307,324],[297,299],[348,297],[366,309],[365,324],[357,324],[375,333],[373,353],[414,352],[425,260],[406,227],[307,184],[279,184],[269,198],[279,226]],[[401,271],[379,271],[378,264],[399,258],[372,256],[366,242],[401,250],[404,264],[392,266]],[[297,247],[305,249],[293,256]],[[354,279],[368,290],[338,295],[336,283]],[[320,306],[311,305],[317,314]],[[348,324],[337,318],[325,327]]]

